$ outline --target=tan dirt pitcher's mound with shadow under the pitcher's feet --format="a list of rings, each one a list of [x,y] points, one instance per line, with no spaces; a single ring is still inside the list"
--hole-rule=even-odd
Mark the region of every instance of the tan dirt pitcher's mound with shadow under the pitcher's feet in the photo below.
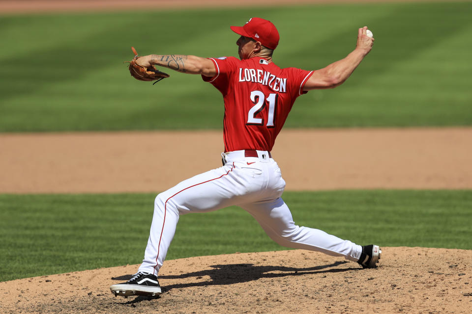
[[[137,265],[0,283],[2,313],[470,313],[472,251],[384,247],[380,267],[303,250],[166,261],[159,298],[114,297]]]

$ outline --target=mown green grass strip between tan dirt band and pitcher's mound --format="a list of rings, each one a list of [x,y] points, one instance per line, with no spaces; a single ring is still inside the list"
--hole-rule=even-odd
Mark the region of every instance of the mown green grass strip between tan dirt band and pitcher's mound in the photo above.
[[[286,192],[283,197],[298,225],[359,244],[472,249],[472,191]],[[140,263],[153,200],[153,194],[0,195],[0,281]],[[282,249],[246,211],[234,207],[182,216],[167,259]]]

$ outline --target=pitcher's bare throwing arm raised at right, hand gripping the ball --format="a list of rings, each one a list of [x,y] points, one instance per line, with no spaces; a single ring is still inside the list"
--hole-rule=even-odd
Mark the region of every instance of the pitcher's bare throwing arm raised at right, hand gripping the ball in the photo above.
[[[354,72],[360,61],[372,49],[374,38],[368,37],[366,30],[367,26],[359,28],[357,45],[353,52],[349,53],[344,59],[314,71],[313,75],[306,81],[303,90],[334,88],[344,83]]]

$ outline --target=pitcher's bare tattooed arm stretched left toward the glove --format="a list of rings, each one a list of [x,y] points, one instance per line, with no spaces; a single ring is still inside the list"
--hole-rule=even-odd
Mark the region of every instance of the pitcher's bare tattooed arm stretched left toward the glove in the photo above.
[[[157,65],[187,74],[202,74],[207,77],[216,75],[213,61],[195,55],[149,54],[139,57],[136,62],[143,66]]]

